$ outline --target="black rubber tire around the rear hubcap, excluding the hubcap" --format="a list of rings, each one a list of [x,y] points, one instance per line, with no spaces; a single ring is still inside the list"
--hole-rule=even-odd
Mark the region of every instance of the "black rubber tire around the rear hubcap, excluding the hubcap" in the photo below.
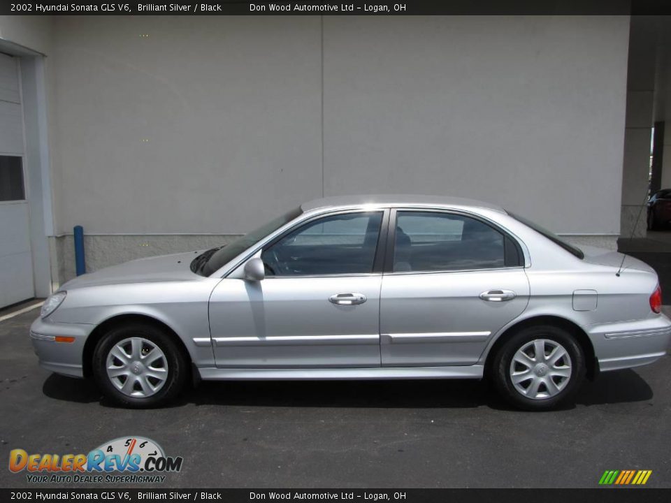
[[[535,339],[547,339],[561,344],[571,358],[572,374],[568,384],[557,395],[544,400],[533,400],[521,395],[510,379],[510,363],[514,354],[527,342]],[[531,326],[519,330],[500,347],[493,361],[493,381],[499,393],[510,404],[525,410],[548,410],[569,402],[585,375],[585,357],[575,337],[564,330],[551,325]]]

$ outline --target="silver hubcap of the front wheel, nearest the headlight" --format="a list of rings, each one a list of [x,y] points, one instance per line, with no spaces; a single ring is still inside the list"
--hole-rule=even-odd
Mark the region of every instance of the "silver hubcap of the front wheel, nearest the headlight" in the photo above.
[[[129,337],[110,349],[107,377],[124,395],[147,398],[158,393],[166,384],[168,360],[150,340]]]

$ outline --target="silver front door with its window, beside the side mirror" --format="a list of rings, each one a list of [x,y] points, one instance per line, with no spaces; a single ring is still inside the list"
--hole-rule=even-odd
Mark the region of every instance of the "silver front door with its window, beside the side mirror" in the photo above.
[[[260,251],[264,279],[219,282],[210,298],[217,367],[380,367],[388,213],[298,224]]]

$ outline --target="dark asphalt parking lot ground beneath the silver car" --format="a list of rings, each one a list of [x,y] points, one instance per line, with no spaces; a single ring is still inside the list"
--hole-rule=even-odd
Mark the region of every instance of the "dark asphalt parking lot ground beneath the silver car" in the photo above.
[[[174,407],[126,410],[38,367],[37,314],[0,323],[4,488],[31,486],[8,470],[10,449],[88,453],[130,435],[183,456],[164,488],[596,488],[606,469],[651,469],[648,487],[671,487],[670,356],[603,374],[575,407],[546,413],[461,380],[210,382]]]

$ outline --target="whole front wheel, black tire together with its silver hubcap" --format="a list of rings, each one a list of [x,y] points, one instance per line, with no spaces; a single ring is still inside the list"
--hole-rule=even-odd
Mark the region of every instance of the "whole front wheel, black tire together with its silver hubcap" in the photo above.
[[[185,388],[189,375],[178,345],[150,323],[130,323],[103,335],[92,369],[103,395],[132,409],[168,404]]]

